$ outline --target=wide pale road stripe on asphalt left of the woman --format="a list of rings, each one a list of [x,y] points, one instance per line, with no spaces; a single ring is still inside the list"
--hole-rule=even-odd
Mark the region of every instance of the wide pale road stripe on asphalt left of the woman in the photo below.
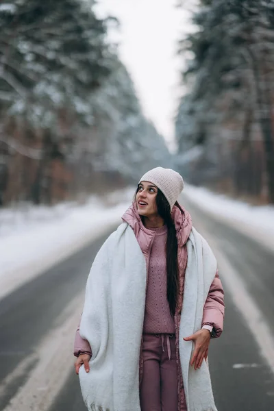
[[[56,327],[42,341],[35,357],[37,365],[29,375],[27,382],[18,390],[8,406],[3,411],[47,411],[58,395],[61,388],[73,371],[73,340],[83,306],[84,292],[78,295],[56,320]],[[14,377],[29,361],[29,356],[10,373],[7,381],[14,381]],[[4,387],[7,389],[7,384]]]

